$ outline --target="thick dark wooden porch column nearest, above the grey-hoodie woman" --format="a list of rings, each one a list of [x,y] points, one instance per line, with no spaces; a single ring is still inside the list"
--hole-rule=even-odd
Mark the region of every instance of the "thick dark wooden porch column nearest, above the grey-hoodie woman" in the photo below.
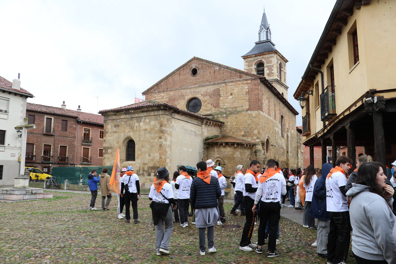
[[[375,160],[381,162],[386,173],[385,135],[382,112],[373,112]]]

